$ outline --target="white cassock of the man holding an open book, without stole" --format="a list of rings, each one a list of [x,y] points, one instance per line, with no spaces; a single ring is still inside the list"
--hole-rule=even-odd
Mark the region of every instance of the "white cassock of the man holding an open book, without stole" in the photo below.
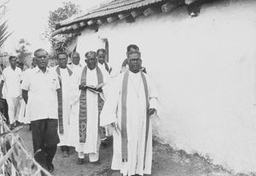
[[[83,70],[82,70],[83,71]],[[99,147],[101,143],[100,135],[98,135],[98,94],[86,90],[86,105],[87,105],[87,128],[86,128],[86,141],[85,143],[79,142],[79,84],[81,82],[82,71],[75,72],[71,77],[70,83],[70,133],[69,142],[75,147],[79,153],[89,154],[90,162],[96,162],[99,157]],[[102,71],[103,82],[108,82],[107,71]],[[96,69],[90,71],[87,68],[86,84],[96,86],[97,74]],[[104,91],[104,88],[102,88]],[[80,156],[79,156],[80,157]],[[83,158],[83,156],[81,156]]]

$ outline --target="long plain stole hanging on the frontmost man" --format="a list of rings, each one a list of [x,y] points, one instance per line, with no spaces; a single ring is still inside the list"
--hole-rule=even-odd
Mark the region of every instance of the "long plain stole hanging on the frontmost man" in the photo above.
[[[143,79],[143,86],[144,86],[144,92],[146,97],[146,132],[145,132],[145,151],[144,151],[144,164],[145,164],[145,158],[146,158],[146,150],[147,150],[147,144],[148,144],[148,128],[149,128],[149,96],[148,96],[148,83],[146,80],[146,77],[142,71],[140,71],[142,79]],[[128,159],[128,139],[127,139],[127,129],[126,129],[126,118],[127,118],[127,111],[126,111],[126,103],[127,103],[127,88],[128,88],[128,77],[129,77],[129,71],[125,72],[124,78],[123,78],[123,84],[122,84],[122,95],[121,95],[121,147],[122,147],[122,160],[125,162],[125,160]]]

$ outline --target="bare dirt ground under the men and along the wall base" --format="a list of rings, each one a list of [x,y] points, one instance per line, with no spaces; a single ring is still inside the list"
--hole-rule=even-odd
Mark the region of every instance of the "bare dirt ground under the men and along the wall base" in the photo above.
[[[28,126],[19,132],[24,140],[29,152],[32,152],[32,133]],[[58,148],[54,165],[53,175],[60,176],[119,176],[118,171],[110,169],[112,160],[112,139],[108,140],[108,145],[101,147],[100,162],[92,164],[86,162],[82,165],[76,164],[77,154],[72,148],[71,155],[61,157],[61,150]],[[210,160],[197,154],[188,155],[184,150],[173,150],[170,145],[162,145],[154,141],[153,167],[154,176],[230,176],[234,175],[221,166],[214,166]],[[243,175],[243,174],[239,174]]]

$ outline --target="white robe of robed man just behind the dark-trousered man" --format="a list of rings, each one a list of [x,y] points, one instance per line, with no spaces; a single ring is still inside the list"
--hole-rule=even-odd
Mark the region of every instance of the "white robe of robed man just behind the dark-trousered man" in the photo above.
[[[62,93],[62,120],[63,120],[63,133],[59,133],[60,137],[60,143],[58,144],[59,146],[62,145],[70,145],[69,140],[68,140],[68,135],[69,133],[69,115],[70,115],[70,109],[71,106],[69,104],[69,86],[70,86],[70,76],[68,74],[67,69],[61,69],[60,68],[60,73],[61,73],[61,93]]]

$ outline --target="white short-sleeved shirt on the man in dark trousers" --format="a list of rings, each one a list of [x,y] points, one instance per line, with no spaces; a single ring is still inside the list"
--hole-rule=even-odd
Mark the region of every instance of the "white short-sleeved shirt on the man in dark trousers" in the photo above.
[[[21,89],[29,90],[31,121],[45,118],[58,119],[56,90],[60,83],[56,72],[47,68],[45,73],[38,67],[32,69],[21,83]]]

